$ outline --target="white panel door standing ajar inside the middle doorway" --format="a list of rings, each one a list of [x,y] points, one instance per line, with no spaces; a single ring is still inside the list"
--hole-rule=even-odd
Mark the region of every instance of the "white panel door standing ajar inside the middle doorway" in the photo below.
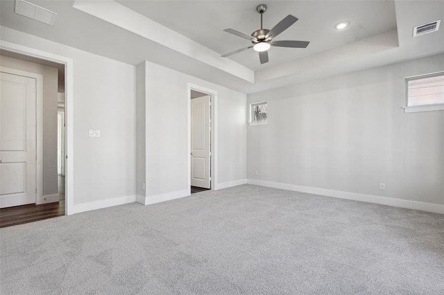
[[[210,188],[209,95],[191,99],[191,185]]]

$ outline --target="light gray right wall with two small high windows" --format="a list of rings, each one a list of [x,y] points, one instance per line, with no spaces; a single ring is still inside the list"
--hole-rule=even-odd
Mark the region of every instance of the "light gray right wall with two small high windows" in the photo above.
[[[444,205],[444,111],[403,110],[404,78],[443,70],[441,54],[248,95],[268,101],[248,178]]]

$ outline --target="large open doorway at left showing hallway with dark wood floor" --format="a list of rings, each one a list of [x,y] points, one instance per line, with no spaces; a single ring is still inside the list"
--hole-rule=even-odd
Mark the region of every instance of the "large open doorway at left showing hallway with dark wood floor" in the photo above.
[[[65,215],[65,65],[1,49],[0,72],[0,227]]]

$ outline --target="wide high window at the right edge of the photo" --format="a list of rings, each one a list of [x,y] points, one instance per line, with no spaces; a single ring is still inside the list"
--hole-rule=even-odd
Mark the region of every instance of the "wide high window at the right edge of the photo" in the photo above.
[[[444,72],[406,78],[406,113],[444,110]]]

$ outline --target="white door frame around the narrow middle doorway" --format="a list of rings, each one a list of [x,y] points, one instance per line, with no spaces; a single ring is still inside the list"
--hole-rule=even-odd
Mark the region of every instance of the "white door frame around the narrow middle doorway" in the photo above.
[[[205,88],[192,83],[187,83],[187,189],[188,195],[191,195],[191,90],[196,90],[210,97],[210,189],[217,189],[217,91]]]

